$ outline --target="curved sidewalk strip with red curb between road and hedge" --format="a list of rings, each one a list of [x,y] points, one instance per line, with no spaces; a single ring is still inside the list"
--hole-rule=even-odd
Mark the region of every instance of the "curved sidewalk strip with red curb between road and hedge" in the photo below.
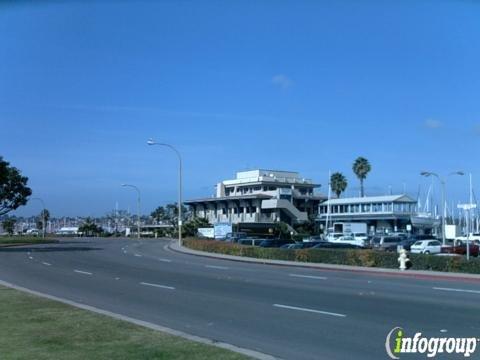
[[[451,273],[451,272],[449,273],[449,272],[429,271],[429,270],[401,271],[399,269],[385,269],[385,268],[374,268],[374,267],[363,267],[363,266],[352,266],[352,265],[335,265],[335,264],[308,263],[308,262],[286,261],[286,260],[257,259],[257,258],[250,258],[245,256],[224,255],[224,254],[218,254],[218,253],[210,253],[206,251],[192,250],[184,246],[178,245],[176,241],[172,241],[168,245],[168,247],[173,251],[180,252],[183,254],[203,256],[203,257],[209,257],[209,258],[214,258],[219,260],[245,262],[245,263],[276,265],[276,266],[292,266],[292,267],[331,270],[331,271],[352,271],[357,273],[362,272],[362,273],[370,273],[375,275],[401,276],[401,277],[423,278],[423,279],[432,279],[432,280],[439,279],[439,280],[463,280],[463,281],[480,282],[480,274]]]

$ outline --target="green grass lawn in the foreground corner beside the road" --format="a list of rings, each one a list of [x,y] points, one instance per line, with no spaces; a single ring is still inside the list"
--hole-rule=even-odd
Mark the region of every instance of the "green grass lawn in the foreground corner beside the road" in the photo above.
[[[0,286],[0,358],[247,359]]]

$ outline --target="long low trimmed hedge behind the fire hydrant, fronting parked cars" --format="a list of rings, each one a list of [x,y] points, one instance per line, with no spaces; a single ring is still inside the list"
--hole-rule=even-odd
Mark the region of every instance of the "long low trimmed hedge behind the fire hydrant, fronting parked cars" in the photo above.
[[[215,240],[185,239],[188,248],[212,253],[247,256],[258,259],[354,265],[398,269],[398,254],[359,249],[279,249],[232,244]],[[411,269],[480,274],[480,259],[467,261],[463,257],[409,254]]]

